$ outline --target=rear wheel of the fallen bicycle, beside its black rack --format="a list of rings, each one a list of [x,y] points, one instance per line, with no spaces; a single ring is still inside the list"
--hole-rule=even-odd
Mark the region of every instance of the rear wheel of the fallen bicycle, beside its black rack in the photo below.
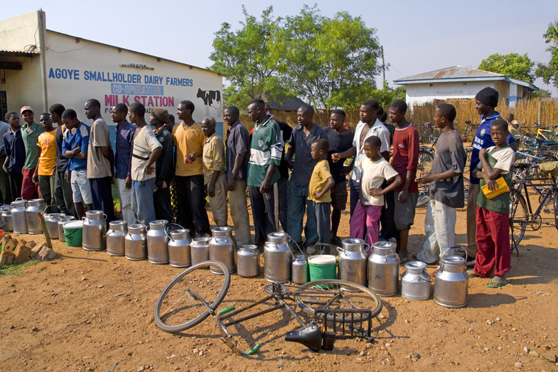
[[[313,316],[317,309],[360,309],[371,310],[372,318],[382,310],[380,297],[362,285],[347,282],[347,280],[322,279],[304,283],[295,291],[295,301],[309,316]],[[331,319],[330,319],[331,316]],[[333,315],[327,320],[333,321]],[[362,321],[368,320],[363,316]],[[335,322],[361,322],[360,316],[343,318],[335,316]]]

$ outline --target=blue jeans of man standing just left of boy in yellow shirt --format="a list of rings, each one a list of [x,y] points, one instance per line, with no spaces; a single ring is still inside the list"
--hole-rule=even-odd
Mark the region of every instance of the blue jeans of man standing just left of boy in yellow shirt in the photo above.
[[[287,233],[299,245],[302,243],[302,221],[304,210],[307,211],[306,226],[304,226],[304,246],[311,247],[318,241],[318,226],[316,214],[311,200],[308,200],[308,185],[298,182],[289,182],[289,217],[287,219]]]

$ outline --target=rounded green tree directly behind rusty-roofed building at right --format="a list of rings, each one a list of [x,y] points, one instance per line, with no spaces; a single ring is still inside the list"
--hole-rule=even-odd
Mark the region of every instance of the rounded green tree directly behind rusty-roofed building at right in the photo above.
[[[533,66],[535,62],[526,54],[491,54],[487,59],[483,59],[479,65],[479,70],[497,72],[513,79],[519,79],[533,83]]]

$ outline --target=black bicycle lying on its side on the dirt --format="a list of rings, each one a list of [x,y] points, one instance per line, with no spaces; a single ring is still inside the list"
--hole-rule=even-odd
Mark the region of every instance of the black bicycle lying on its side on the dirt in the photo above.
[[[207,270],[218,267],[224,275],[211,275]],[[222,335],[221,340],[235,353],[252,355],[260,349],[254,344],[248,351],[238,348],[227,327],[262,316],[278,309],[287,309],[302,329],[286,334],[285,340],[299,342],[314,351],[333,349],[335,338],[364,338],[371,340],[371,322],[382,310],[382,301],[369,288],[344,280],[324,279],[307,282],[299,287],[273,282],[265,287],[268,296],[245,307],[225,307],[217,311],[227,295],[231,276],[218,261],[205,261],[185,269],[169,282],[155,306],[155,323],[163,331],[178,333],[200,324],[213,316]],[[293,291],[291,291],[293,289]],[[243,318],[232,319],[240,313],[265,304],[267,308]],[[296,304],[311,322],[304,322],[293,309]],[[318,324],[322,324],[324,331]],[[329,329],[329,331],[328,331]]]

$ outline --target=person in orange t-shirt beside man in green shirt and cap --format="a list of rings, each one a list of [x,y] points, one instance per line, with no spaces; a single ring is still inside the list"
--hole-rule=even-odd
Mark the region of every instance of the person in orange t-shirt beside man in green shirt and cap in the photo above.
[[[56,128],[48,112],[43,112],[39,120],[45,132],[39,134],[37,146],[41,148],[39,163],[33,174],[33,182],[39,183],[39,192],[46,205],[52,204],[54,198],[54,171],[56,169]]]

